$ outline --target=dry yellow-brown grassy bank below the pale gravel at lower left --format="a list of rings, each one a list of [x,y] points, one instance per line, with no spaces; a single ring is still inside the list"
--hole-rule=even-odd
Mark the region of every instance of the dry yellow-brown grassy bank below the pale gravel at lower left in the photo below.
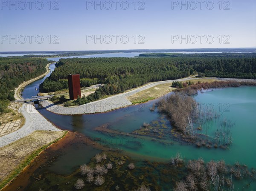
[[[29,136],[0,148],[0,188],[19,174],[26,165],[29,165],[41,149],[63,135],[64,131],[35,131]],[[21,172],[15,179],[24,181],[25,177],[27,174]],[[11,190],[16,190],[16,188]]]

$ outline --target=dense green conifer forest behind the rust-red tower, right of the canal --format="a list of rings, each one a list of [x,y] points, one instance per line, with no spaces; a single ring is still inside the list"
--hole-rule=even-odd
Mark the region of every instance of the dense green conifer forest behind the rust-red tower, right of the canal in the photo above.
[[[79,99],[79,102],[81,101],[79,105],[81,105],[101,99],[106,95],[118,94],[130,88],[142,86],[145,83],[179,79],[197,73],[207,77],[256,79],[256,57],[254,53],[243,53],[244,57],[241,57],[241,54],[227,57],[209,57],[208,54],[205,54],[205,56],[197,55],[198,57],[184,57],[182,54],[180,57],[157,58],[61,59],[56,64],[55,71],[44,81],[41,88],[45,92],[68,88],[68,74],[80,74],[81,87],[88,87],[97,83],[105,84],[97,89],[94,94]]]

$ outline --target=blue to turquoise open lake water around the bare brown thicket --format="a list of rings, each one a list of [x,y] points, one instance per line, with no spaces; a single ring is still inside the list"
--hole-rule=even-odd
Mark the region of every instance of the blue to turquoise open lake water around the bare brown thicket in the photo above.
[[[141,144],[134,144],[134,136],[119,135],[111,137],[107,133],[104,134],[94,130],[94,128],[106,124],[111,129],[126,134],[139,129],[144,122],[151,123],[152,121],[159,120],[161,117],[162,120],[166,120],[157,111],[152,112],[149,110],[157,100],[102,114],[62,116],[53,114],[45,109],[41,109],[39,112],[61,129],[78,131],[93,139],[100,138],[101,144],[112,146],[112,148],[118,147],[124,151],[140,155],[142,158],[150,157],[156,160],[169,160],[177,152],[180,152],[186,159],[198,159],[199,157],[203,157],[206,161],[224,159],[230,164],[240,161],[249,167],[256,168],[255,97],[255,86],[214,89],[213,91],[199,93],[195,97],[199,103],[204,103],[205,105],[210,103],[213,105],[217,112],[220,111],[220,105],[222,105],[222,117],[235,122],[235,126],[231,130],[233,144],[230,146],[230,149],[225,150],[221,148],[208,149],[197,148],[192,145],[180,145],[180,143],[173,140],[166,140],[170,144],[165,145],[160,141],[152,141],[140,136],[137,136],[136,139]],[[228,105],[228,108],[226,105]]]

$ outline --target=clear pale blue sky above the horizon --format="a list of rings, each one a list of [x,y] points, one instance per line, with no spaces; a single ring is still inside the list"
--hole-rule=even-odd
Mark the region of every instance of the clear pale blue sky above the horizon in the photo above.
[[[0,51],[256,46],[255,0],[0,3]]]

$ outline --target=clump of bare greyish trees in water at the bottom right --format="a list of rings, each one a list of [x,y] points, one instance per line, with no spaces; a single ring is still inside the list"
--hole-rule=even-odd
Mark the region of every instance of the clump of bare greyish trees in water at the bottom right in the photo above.
[[[256,174],[255,171],[250,173],[246,165],[237,162],[230,166],[226,165],[224,160],[211,160],[206,164],[202,159],[189,160],[186,168],[188,174],[176,183],[175,191],[234,191],[233,175],[240,180],[250,179],[253,173]],[[247,186],[250,186],[250,183]]]

